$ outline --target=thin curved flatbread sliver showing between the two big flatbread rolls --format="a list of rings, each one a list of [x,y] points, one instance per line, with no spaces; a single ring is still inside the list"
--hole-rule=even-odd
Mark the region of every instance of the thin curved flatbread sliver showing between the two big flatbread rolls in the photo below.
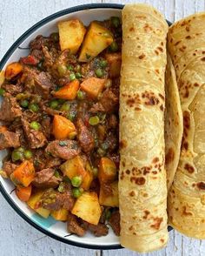
[[[179,163],[183,133],[182,107],[175,68],[169,53],[165,75],[165,106],[165,166],[169,191]]]

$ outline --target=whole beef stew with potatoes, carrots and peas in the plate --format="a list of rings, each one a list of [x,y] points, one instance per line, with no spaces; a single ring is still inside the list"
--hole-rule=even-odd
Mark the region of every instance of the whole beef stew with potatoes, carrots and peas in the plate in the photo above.
[[[118,17],[58,24],[8,64],[0,94],[1,175],[18,199],[68,232],[120,232],[118,104],[122,28]]]

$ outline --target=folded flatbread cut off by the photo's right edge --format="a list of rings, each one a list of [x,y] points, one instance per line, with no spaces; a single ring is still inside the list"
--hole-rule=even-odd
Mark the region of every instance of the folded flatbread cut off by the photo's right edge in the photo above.
[[[196,239],[205,239],[204,31],[205,13],[199,13],[172,25],[168,34],[183,114],[181,156],[169,191],[169,223]]]

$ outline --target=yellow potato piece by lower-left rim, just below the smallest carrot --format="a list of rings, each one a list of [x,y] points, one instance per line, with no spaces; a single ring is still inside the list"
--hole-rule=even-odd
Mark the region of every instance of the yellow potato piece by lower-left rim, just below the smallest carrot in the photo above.
[[[29,205],[31,209],[33,209],[43,218],[47,219],[50,216],[50,210],[39,206],[39,202],[42,196],[43,191],[36,192],[35,194],[31,195],[30,199],[27,201],[27,205]]]

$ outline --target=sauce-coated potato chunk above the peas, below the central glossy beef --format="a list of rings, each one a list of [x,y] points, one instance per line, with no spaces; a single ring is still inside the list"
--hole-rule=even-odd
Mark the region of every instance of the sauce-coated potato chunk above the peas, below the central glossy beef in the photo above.
[[[84,190],[89,190],[89,186],[93,180],[93,173],[89,170],[89,163],[84,163],[83,158],[76,156],[67,160],[60,166],[63,175],[72,179],[75,176],[81,176],[83,181],[81,187]]]

